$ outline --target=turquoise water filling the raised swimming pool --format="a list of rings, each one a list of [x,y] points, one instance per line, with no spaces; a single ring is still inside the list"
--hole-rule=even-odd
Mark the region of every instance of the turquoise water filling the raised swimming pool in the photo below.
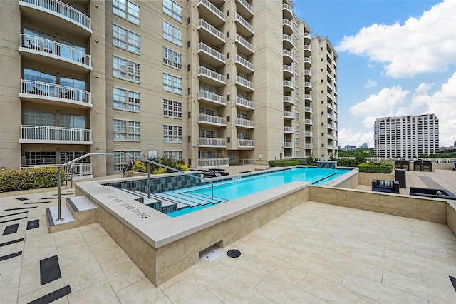
[[[202,202],[191,208],[184,208],[179,211],[167,213],[168,216],[176,217],[182,214],[197,211],[203,208],[213,206],[217,203],[232,201],[237,198],[249,196],[250,194],[264,191],[270,188],[291,183],[293,181],[306,181],[314,185],[323,185],[333,178],[348,173],[350,169],[326,169],[326,168],[309,168],[296,167],[271,173],[262,173],[253,176],[234,176],[227,180],[214,183],[214,199],[211,203],[212,187],[209,183],[192,188],[170,191],[170,196],[186,196],[192,200]]]

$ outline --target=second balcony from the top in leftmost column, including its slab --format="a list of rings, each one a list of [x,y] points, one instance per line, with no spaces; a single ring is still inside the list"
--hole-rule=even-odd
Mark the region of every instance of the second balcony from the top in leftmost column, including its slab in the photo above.
[[[73,64],[76,71],[92,71],[92,59],[89,54],[56,41],[21,34],[19,51],[23,58],[32,61],[42,61],[53,66],[61,66],[64,61]]]

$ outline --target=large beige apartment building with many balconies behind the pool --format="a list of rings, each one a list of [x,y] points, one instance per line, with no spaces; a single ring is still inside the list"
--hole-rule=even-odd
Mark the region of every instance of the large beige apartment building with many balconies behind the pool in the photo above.
[[[337,154],[337,54],[291,0],[0,1],[0,166]],[[119,172],[123,156],[73,170]]]

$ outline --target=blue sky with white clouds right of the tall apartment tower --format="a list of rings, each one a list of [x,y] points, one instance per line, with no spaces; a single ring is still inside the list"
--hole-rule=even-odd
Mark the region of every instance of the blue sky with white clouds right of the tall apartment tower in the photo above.
[[[338,54],[338,146],[373,148],[377,118],[434,113],[456,141],[456,0],[295,0]]]

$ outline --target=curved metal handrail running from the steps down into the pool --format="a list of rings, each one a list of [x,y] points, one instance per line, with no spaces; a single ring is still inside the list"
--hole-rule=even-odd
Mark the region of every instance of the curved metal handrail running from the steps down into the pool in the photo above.
[[[192,175],[190,173],[187,173],[185,171],[180,171],[180,170],[178,170],[176,168],[172,168],[172,167],[163,165],[162,163],[157,163],[155,161],[150,161],[150,159],[142,158],[140,156],[135,156],[133,154],[126,153],[126,152],[87,153],[87,154],[84,154],[83,156],[79,156],[78,158],[74,158],[72,161],[67,161],[66,163],[63,163],[63,165],[58,167],[58,170],[57,170],[57,204],[58,204],[57,208],[58,208],[58,217],[56,218],[55,221],[63,221],[63,219],[64,219],[64,218],[62,218],[62,196],[61,196],[61,171],[62,171],[62,168],[64,166],[68,166],[68,165],[71,165],[73,163],[76,163],[76,161],[81,161],[81,159],[87,158],[88,156],[95,156],[95,155],[125,155],[125,156],[130,156],[130,158],[133,158],[133,159],[138,159],[140,161],[145,161],[147,163],[147,193],[148,193],[149,198],[150,198],[150,172],[149,172],[149,166],[150,166],[150,163],[152,163],[154,165],[157,165],[157,166],[160,166],[160,167],[163,167],[163,168],[167,168],[168,170],[171,170],[171,171],[187,174],[188,176],[191,176],[192,178],[199,179],[199,181],[202,181],[203,183],[210,183],[211,184],[211,203],[214,202],[214,182],[208,181],[206,179],[203,179],[201,176],[194,176],[194,175]],[[132,168],[132,170],[133,170],[133,168]]]

